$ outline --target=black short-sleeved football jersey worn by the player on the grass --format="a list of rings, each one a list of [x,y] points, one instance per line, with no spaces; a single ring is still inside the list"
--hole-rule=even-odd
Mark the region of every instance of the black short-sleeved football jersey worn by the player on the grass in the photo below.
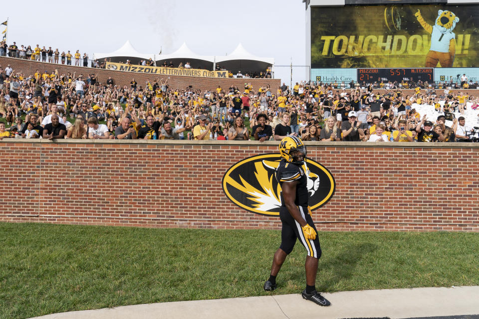
[[[279,162],[278,168],[276,168],[275,177],[281,186],[283,183],[297,181],[298,183],[296,184],[296,198],[294,200],[294,204],[297,206],[308,206],[308,177],[306,176],[306,172],[301,165],[289,163],[286,160],[281,160]],[[281,206],[286,206],[282,192]]]

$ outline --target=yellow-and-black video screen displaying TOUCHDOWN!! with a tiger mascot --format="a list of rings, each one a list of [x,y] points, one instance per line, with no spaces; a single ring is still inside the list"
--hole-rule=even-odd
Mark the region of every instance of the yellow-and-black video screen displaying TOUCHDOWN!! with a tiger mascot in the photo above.
[[[311,7],[311,67],[476,67],[478,27],[472,4]]]

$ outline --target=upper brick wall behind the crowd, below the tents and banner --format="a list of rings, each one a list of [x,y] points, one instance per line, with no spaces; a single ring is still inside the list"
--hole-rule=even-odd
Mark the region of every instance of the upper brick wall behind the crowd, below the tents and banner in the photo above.
[[[72,59],[73,60],[73,59]],[[74,64],[74,61],[72,62]],[[51,72],[55,69],[58,70],[60,74],[68,72],[76,72],[77,75],[83,74],[87,77],[88,74],[98,73],[98,78],[100,82],[106,82],[109,76],[115,81],[117,85],[130,85],[132,78],[135,78],[139,85],[145,87],[145,82],[147,79],[153,81],[156,78],[166,78],[167,76],[157,76],[157,75],[148,75],[135,72],[125,72],[125,71],[111,71],[105,69],[94,69],[94,68],[85,68],[80,66],[71,66],[66,64],[52,64],[46,62],[37,62],[9,57],[0,57],[0,65],[4,68],[8,64],[11,65],[15,72],[23,72],[25,76],[34,74],[38,69],[40,72],[45,70]],[[244,87],[245,82],[251,82],[253,89],[256,91],[261,86],[270,85],[271,88],[276,90],[280,86],[280,79],[235,79],[235,78],[202,78],[202,77],[190,77],[190,76],[170,76],[168,83],[171,88],[180,88],[184,89],[185,87],[192,85],[194,89],[201,90],[211,90],[216,89],[218,85],[225,90],[228,89],[231,85],[238,86],[240,89]]]

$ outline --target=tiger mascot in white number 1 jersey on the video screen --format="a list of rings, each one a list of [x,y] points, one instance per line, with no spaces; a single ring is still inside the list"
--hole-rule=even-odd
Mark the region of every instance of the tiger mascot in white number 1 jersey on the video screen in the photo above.
[[[434,68],[438,62],[442,67],[452,67],[456,55],[456,34],[453,32],[459,18],[451,11],[438,11],[434,25],[426,22],[421,11],[414,14],[422,27],[431,33],[431,47],[426,55],[426,67]]]

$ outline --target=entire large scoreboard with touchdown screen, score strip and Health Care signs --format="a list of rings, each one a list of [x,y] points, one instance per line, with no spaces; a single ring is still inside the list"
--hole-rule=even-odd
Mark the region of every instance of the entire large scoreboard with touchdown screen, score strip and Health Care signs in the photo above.
[[[464,69],[479,67],[479,3],[304,2],[306,64],[311,66],[311,80],[321,76],[357,81],[435,81],[435,77],[455,78]],[[436,25],[440,18],[448,19],[444,24],[447,30]],[[441,30],[441,34],[431,30]]]

